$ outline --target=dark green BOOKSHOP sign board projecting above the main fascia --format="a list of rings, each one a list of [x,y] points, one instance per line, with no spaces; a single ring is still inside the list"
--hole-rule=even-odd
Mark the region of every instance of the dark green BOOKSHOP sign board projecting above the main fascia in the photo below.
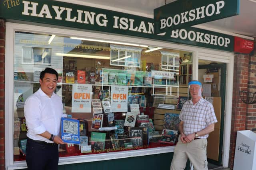
[[[155,34],[239,14],[239,0],[177,0],[154,9]]]

